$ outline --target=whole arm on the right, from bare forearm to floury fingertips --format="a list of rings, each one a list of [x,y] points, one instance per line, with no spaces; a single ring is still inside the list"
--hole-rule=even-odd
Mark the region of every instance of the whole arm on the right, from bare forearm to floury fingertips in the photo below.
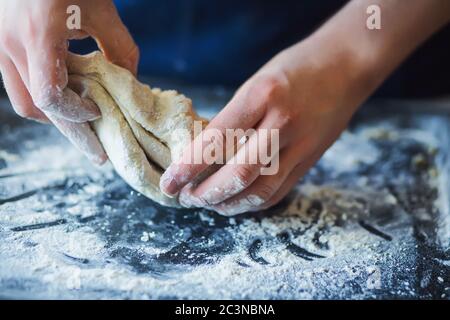
[[[380,30],[366,27],[366,10],[374,4],[382,8]],[[259,70],[204,131],[226,136],[226,129],[254,128],[257,134],[245,142],[246,148],[201,181],[196,177],[212,168],[208,161],[196,164],[191,154],[202,158],[205,146],[221,139],[199,135],[163,174],[161,190],[172,196],[179,192],[184,206],[208,207],[224,215],[276,204],[336,140],[356,108],[449,20],[446,0],[350,1],[308,39]],[[275,175],[261,175],[262,161],[239,161],[270,149],[271,140],[260,139],[263,129],[279,130]],[[225,149],[233,145],[225,143]]]

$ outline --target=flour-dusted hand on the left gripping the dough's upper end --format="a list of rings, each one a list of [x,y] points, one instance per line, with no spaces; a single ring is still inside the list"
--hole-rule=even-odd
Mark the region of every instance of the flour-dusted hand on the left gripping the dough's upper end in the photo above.
[[[81,30],[69,30],[69,5],[81,9]],[[92,36],[106,57],[136,72],[139,51],[109,0],[0,0],[0,70],[14,110],[49,120],[92,161],[107,156],[87,121],[95,104],[67,88],[69,39]]]

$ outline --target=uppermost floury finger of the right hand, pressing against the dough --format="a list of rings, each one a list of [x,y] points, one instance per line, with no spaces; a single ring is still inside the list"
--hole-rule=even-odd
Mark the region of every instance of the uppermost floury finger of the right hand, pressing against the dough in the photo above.
[[[233,144],[232,141],[224,141],[227,129],[240,128],[245,132],[253,128],[265,113],[264,108],[255,107],[255,105],[257,103],[251,104],[245,93],[237,93],[203,130],[202,134],[198,135],[184,150],[181,159],[177,159],[167,168],[161,177],[161,190],[165,194],[173,196],[209,167],[211,163],[205,161],[203,152],[210,147],[223,151],[224,146],[229,147]],[[215,139],[211,139],[211,137],[215,137]],[[200,159],[200,161],[194,161],[195,159]]]

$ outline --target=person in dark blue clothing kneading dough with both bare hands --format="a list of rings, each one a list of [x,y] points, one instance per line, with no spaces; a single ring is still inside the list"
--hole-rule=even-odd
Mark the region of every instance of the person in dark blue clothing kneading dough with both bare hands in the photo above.
[[[147,12],[143,19],[133,19],[133,33],[141,36],[139,46],[145,49],[144,72],[193,82],[243,82],[207,129],[279,130],[276,174],[261,175],[260,164],[227,163],[193,184],[209,165],[182,161],[183,156],[163,174],[163,192],[179,194],[185,206],[203,205],[225,215],[273,206],[333,144],[358,106],[450,20],[448,0],[344,2],[316,4],[326,15],[337,10],[317,27],[324,15],[312,14],[306,1],[133,1],[134,9],[116,1],[125,15]],[[70,5],[81,9],[81,30],[66,26]],[[373,6],[381,13],[377,28],[368,27],[368,8]],[[300,13],[302,20],[296,16]],[[308,27],[302,28],[303,23]],[[65,57],[68,40],[90,36],[108,60],[136,74],[139,49],[115,4],[2,0],[0,29],[0,68],[15,111],[53,123],[92,161],[106,161],[88,124],[100,116],[99,110],[66,86]],[[445,63],[448,51],[440,52]],[[264,147],[255,141],[246,142],[246,152]],[[198,145],[194,141],[185,154],[192,148],[199,152]]]

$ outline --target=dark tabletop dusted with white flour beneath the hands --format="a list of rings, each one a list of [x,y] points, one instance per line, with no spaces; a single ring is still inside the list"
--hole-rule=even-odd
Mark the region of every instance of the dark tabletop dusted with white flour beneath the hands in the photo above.
[[[207,116],[229,97],[180,91]],[[445,110],[365,107],[277,207],[225,218],[154,204],[3,100],[0,297],[448,299]]]

